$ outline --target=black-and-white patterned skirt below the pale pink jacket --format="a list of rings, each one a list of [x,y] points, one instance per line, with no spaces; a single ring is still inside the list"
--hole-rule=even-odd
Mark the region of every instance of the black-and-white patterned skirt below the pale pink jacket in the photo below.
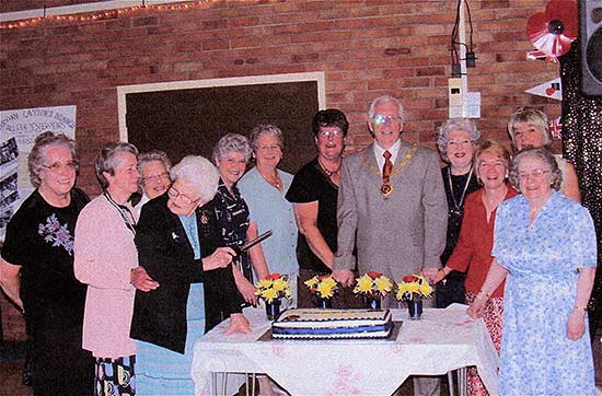
[[[105,359],[96,358],[94,371],[95,396],[134,396],[136,356]]]

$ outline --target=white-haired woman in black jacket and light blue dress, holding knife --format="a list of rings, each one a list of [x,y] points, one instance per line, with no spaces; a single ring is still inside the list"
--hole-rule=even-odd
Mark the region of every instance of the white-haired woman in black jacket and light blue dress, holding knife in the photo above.
[[[136,234],[140,266],[158,282],[154,290],[136,292],[130,335],[139,340],[140,395],[194,394],[194,343],[221,322],[221,312],[231,318],[227,334],[250,330],[231,269],[235,253],[220,247],[213,208],[204,206],[216,195],[218,171],[205,158],[188,155],[171,176],[170,189],[142,208]]]

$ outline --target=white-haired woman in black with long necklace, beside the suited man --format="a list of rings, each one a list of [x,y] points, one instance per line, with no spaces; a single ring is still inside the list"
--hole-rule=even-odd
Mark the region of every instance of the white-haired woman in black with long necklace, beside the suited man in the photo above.
[[[441,254],[444,266],[460,236],[460,226],[464,217],[465,198],[478,189],[476,172],[473,166],[473,151],[481,139],[476,124],[468,118],[451,118],[437,130],[437,145],[448,166],[441,168],[445,197],[448,198],[448,234],[445,249]],[[450,304],[464,304],[464,281],[466,275],[459,271],[449,273],[445,282],[437,286],[437,307]]]

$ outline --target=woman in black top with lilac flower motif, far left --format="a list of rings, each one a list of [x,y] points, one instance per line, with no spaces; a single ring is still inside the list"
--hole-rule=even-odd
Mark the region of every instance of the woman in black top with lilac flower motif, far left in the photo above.
[[[2,290],[25,311],[34,395],[88,395],[94,359],[81,347],[85,286],[73,275],[73,232],[89,198],[73,187],[76,143],[44,132],[27,164],[36,190],[8,224]]]

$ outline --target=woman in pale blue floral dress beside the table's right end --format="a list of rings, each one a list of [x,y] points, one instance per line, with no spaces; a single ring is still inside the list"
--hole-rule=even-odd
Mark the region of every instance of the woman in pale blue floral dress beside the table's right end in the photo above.
[[[594,395],[586,306],[595,273],[595,233],[588,210],[560,195],[547,149],[514,158],[510,179],[521,196],[496,219],[495,257],[468,308],[478,317],[506,279],[500,395]]]

